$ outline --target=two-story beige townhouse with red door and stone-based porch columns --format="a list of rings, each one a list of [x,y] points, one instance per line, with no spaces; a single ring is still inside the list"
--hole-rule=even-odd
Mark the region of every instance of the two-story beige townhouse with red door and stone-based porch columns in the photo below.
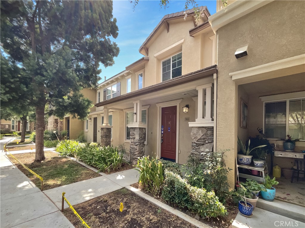
[[[88,141],[125,143],[133,161],[145,154],[183,164],[213,150],[215,34],[201,10],[198,25],[192,10],[164,16],[139,49],[144,57],[99,85]]]

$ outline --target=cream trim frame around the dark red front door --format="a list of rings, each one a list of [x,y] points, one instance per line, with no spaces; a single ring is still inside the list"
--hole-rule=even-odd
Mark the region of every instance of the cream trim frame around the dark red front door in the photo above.
[[[177,106],[177,122],[176,122],[176,129],[177,129],[177,134],[176,134],[176,163],[178,163],[178,154],[179,154],[179,110],[180,110],[180,100],[175,100],[175,101],[168,101],[168,102],[162,102],[158,103],[157,108],[158,108],[158,119],[157,119],[157,156],[161,157],[161,120],[162,120],[162,108],[164,107],[169,107],[169,106]]]

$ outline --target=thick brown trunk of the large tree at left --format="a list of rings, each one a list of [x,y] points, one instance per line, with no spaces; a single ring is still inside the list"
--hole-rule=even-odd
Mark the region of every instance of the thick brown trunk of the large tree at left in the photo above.
[[[45,105],[41,105],[36,107],[35,161],[42,161],[45,159],[45,152],[43,150],[44,131],[45,131]]]

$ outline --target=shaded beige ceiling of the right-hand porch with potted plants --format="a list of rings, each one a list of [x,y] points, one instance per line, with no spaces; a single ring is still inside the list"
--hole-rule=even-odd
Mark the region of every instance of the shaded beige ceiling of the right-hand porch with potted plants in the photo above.
[[[239,86],[244,88],[249,95],[259,94],[260,96],[305,91],[305,73],[292,74]]]

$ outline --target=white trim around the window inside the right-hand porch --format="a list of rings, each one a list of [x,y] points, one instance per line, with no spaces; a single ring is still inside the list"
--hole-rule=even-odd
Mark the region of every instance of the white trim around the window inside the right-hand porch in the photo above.
[[[300,95],[299,92],[295,93],[295,95]],[[277,96],[277,97],[276,97]],[[282,97],[289,97],[287,99],[278,99],[278,100],[271,100],[268,99],[268,97],[270,98],[282,98]],[[291,94],[286,93],[286,94],[278,94],[278,95],[271,95],[271,96],[265,96],[265,97],[260,97],[262,100],[264,99],[265,101],[263,102],[263,133],[265,133],[265,103],[272,103],[272,102],[279,102],[279,101],[286,101],[286,134],[289,134],[289,115],[287,115],[287,113],[289,113],[289,101],[290,100],[295,100],[295,99],[305,99],[305,97],[294,97],[293,95],[291,96]],[[287,124],[288,123],[288,124]],[[267,138],[267,140],[279,140],[278,138]],[[300,142],[305,142],[304,140],[300,140]],[[298,143],[298,142],[296,142]]]

